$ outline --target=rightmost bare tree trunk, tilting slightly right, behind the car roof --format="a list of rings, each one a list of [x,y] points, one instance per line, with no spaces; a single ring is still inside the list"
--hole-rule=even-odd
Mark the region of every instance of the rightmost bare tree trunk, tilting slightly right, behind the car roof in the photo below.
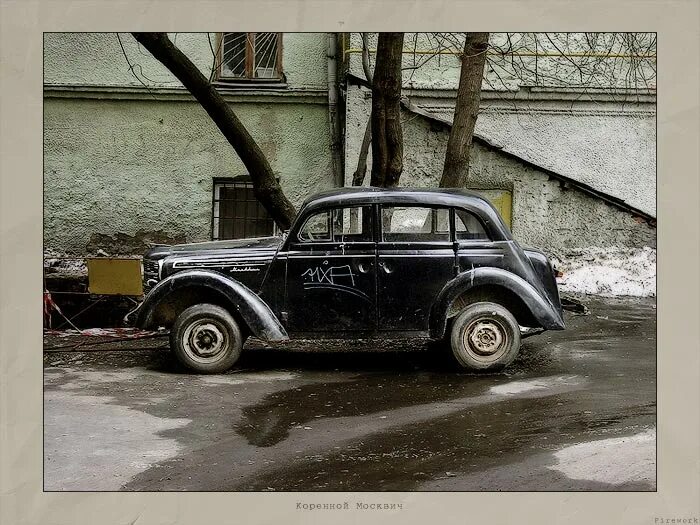
[[[447,140],[441,188],[463,188],[467,185],[469,150],[481,103],[481,81],[484,77],[488,42],[488,33],[467,33],[464,40],[457,103]]]

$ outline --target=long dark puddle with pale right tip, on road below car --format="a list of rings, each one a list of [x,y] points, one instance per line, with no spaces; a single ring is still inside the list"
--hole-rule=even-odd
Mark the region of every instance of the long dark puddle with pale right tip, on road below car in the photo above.
[[[340,420],[354,420],[355,426],[367,426],[364,432],[377,433],[492,404],[501,401],[501,396],[553,396],[586,381],[579,376],[552,376],[491,386],[493,382],[493,377],[414,374],[303,385],[245,407],[243,418],[233,426],[250,444],[270,447],[286,440],[290,432],[318,424],[333,426]]]

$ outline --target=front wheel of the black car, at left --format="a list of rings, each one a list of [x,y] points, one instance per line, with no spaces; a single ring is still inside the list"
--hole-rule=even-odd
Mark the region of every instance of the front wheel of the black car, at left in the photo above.
[[[218,374],[231,368],[243,343],[233,316],[213,304],[190,306],[170,330],[170,348],[178,361],[199,374]]]

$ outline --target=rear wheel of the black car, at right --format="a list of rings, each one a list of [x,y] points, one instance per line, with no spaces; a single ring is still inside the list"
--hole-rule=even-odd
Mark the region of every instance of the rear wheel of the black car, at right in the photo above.
[[[474,303],[457,316],[450,336],[457,363],[474,372],[496,372],[520,351],[520,326],[496,303]]]

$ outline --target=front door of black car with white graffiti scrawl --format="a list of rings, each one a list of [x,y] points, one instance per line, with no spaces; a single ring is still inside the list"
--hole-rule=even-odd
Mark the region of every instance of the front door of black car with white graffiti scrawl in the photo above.
[[[287,254],[287,326],[293,332],[376,329],[376,243],[370,206],[317,212]]]

